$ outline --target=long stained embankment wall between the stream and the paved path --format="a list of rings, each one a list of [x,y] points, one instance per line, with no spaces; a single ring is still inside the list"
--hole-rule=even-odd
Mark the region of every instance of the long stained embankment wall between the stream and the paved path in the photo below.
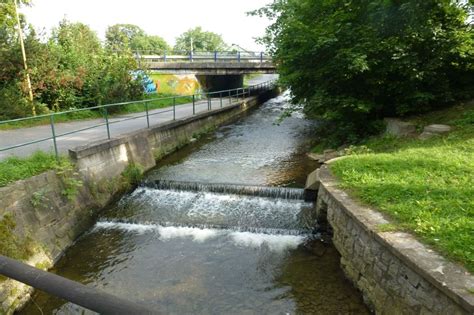
[[[72,165],[0,188],[0,246],[13,258],[48,269],[129,185],[130,166],[147,171],[199,134],[229,123],[277,96],[277,89],[193,117],[163,123],[70,151]],[[20,252],[21,251],[21,252]],[[32,289],[0,279],[0,313],[11,314]]]

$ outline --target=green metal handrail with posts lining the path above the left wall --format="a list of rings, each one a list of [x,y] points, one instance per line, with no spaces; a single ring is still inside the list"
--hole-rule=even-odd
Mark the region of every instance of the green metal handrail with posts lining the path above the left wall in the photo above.
[[[259,83],[259,84],[256,84],[256,85],[252,85],[252,86],[249,86],[249,87],[241,87],[241,88],[222,90],[222,91],[216,91],[216,92],[201,92],[201,93],[191,94],[191,95],[167,96],[167,97],[158,97],[158,98],[147,99],[147,100],[105,104],[105,105],[100,105],[100,106],[74,109],[74,110],[68,110],[68,111],[64,111],[64,112],[55,112],[55,113],[50,113],[50,114],[45,114],[45,115],[38,115],[38,116],[33,116],[33,117],[25,117],[25,118],[4,120],[4,121],[0,121],[0,125],[11,124],[11,123],[19,123],[19,122],[23,122],[23,121],[31,121],[31,120],[35,120],[35,119],[48,118],[49,119],[49,125],[51,127],[51,136],[46,137],[46,138],[37,139],[37,140],[34,140],[34,141],[18,143],[18,144],[15,144],[15,145],[3,147],[3,148],[0,148],[0,152],[9,151],[9,150],[17,149],[17,148],[20,148],[20,147],[25,147],[25,146],[37,144],[37,143],[40,143],[40,142],[45,142],[45,141],[52,140],[53,141],[53,147],[54,147],[54,153],[56,155],[56,158],[59,159],[59,150],[58,150],[57,139],[60,138],[60,137],[68,136],[68,135],[75,134],[75,133],[78,133],[78,132],[82,132],[82,131],[85,131],[85,130],[90,130],[90,129],[106,126],[107,139],[110,140],[111,139],[110,125],[113,125],[113,124],[119,124],[119,123],[122,123],[122,122],[128,121],[128,120],[146,118],[146,128],[150,128],[150,125],[151,125],[150,124],[150,117],[156,116],[156,115],[159,115],[159,114],[163,114],[163,113],[169,113],[169,112],[173,112],[173,120],[175,120],[176,119],[176,107],[178,106],[178,105],[176,105],[176,100],[179,99],[179,98],[191,98],[192,99],[192,109],[193,109],[192,116],[194,116],[194,115],[196,115],[196,105],[199,105],[198,101],[200,101],[200,100],[204,100],[205,102],[207,102],[207,105],[208,105],[207,106],[207,111],[211,111],[212,110],[212,99],[213,98],[218,98],[219,99],[219,107],[222,108],[222,107],[224,107],[224,99],[229,100],[228,105],[226,105],[226,106],[230,106],[234,103],[238,103],[238,102],[243,101],[245,99],[245,97],[251,96],[255,92],[260,93],[261,91],[267,91],[267,90],[272,89],[274,86],[275,86],[275,81],[271,80],[271,81],[266,81],[266,82]],[[156,113],[150,113],[150,109],[149,109],[148,104],[151,103],[151,102],[154,102],[154,101],[159,101],[159,100],[173,100],[172,105],[169,106],[169,107],[172,107],[172,108],[171,109],[163,109],[163,110],[158,109]],[[112,108],[112,107],[122,107],[122,106],[130,105],[130,104],[143,104],[144,111],[139,112],[139,113],[135,113],[135,115],[133,115],[133,113],[132,113],[131,114],[131,115],[133,115],[132,117],[127,117],[127,118],[119,119],[119,120],[116,120],[116,121],[110,121],[110,118],[111,118],[110,115],[109,115],[109,109],[110,108]],[[188,103],[188,104],[191,104],[191,103]],[[58,123],[55,122],[56,117],[61,116],[61,115],[68,115],[68,114],[72,114],[72,113],[82,112],[82,111],[85,111],[85,110],[99,110],[102,114],[102,118],[104,119],[104,122],[101,122],[99,124],[95,124],[95,125],[92,125],[92,126],[76,129],[76,130],[73,130],[73,131],[64,132],[64,133],[57,133],[56,132],[56,126],[58,125]]]

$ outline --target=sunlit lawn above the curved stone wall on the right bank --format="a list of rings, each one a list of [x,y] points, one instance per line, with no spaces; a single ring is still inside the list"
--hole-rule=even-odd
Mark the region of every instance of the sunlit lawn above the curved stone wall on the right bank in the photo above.
[[[474,272],[474,107],[413,117],[454,127],[421,141],[380,136],[331,164],[341,186]]]

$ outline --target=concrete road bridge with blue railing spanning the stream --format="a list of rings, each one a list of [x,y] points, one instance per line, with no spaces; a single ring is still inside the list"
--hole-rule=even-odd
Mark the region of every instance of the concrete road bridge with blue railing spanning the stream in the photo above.
[[[244,74],[273,74],[276,67],[263,52],[136,52],[141,67],[163,74],[194,74],[205,91],[235,89]]]

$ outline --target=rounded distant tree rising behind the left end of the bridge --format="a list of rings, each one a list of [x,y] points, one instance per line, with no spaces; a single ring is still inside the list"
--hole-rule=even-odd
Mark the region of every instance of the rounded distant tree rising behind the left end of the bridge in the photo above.
[[[160,36],[147,35],[133,24],[115,24],[105,33],[106,46],[117,51],[164,51],[169,46]]]

